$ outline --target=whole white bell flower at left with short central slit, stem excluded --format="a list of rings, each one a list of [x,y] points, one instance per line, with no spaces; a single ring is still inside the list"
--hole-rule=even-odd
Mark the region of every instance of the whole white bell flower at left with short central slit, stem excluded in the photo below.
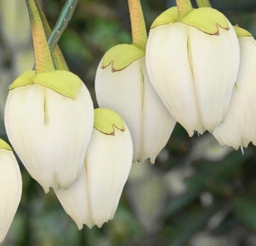
[[[30,71],[11,85],[5,126],[11,145],[46,193],[77,180],[90,140],[93,106],[82,81],[67,71]]]

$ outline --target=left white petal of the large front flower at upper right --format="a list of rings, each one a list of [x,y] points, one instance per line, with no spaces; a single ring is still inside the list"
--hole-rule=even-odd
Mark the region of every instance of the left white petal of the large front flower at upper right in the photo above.
[[[188,57],[188,27],[183,23],[151,29],[146,46],[146,68],[154,89],[171,115],[188,134],[203,132]]]

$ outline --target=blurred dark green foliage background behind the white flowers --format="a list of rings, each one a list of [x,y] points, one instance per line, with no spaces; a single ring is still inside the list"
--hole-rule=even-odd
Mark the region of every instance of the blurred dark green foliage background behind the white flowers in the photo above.
[[[65,1],[41,2],[53,27]],[[5,140],[8,86],[33,67],[24,3],[0,0],[0,138]],[[256,36],[255,0],[211,4],[231,23]],[[142,0],[148,30],[159,13],[174,5],[172,0]],[[119,43],[131,43],[127,1],[80,0],[59,44],[70,70],[90,89],[95,107],[97,65]],[[21,203],[2,245],[256,245],[256,147],[252,145],[242,155],[220,147],[207,133],[188,138],[177,124],[156,164],[133,165],[117,213],[101,229],[78,230],[53,191],[44,194],[22,164],[21,172]]]

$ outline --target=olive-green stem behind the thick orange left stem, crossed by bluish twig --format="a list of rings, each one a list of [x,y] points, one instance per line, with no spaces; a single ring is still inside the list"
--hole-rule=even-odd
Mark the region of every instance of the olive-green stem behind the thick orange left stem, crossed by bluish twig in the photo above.
[[[43,29],[46,33],[46,38],[49,38],[51,30],[50,30],[50,26],[48,24],[48,21],[46,19],[45,14],[43,13],[43,10],[41,8],[41,5],[39,4],[38,0],[34,0],[36,7],[38,9],[38,13],[41,17],[41,21],[43,23]],[[55,68],[58,70],[69,70],[68,69],[68,65],[65,62],[65,58],[63,57],[63,53],[60,50],[60,47],[58,45],[55,46],[55,49],[53,50],[53,62],[55,65]]]

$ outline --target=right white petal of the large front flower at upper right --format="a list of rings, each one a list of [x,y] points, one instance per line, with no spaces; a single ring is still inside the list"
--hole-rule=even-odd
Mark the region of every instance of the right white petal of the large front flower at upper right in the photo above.
[[[228,112],[240,60],[238,38],[231,24],[228,31],[219,28],[219,35],[190,27],[188,36],[201,124],[213,132]]]

